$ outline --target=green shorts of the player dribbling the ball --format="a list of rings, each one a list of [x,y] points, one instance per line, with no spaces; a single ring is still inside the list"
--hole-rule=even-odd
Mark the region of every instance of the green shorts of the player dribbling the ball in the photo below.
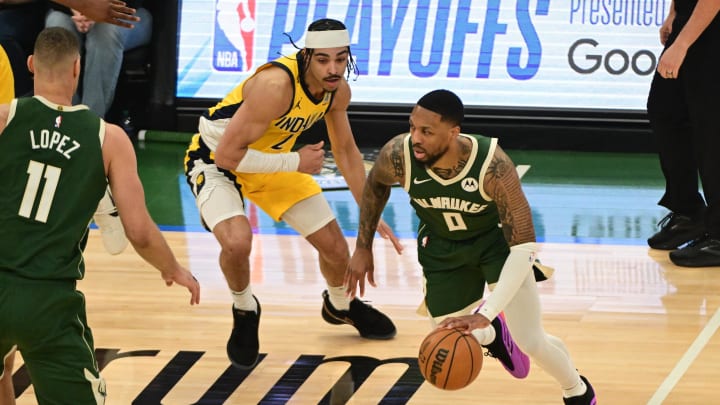
[[[500,228],[455,241],[421,226],[417,246],[425,305],[433,317],[460,311],[482,298],[485,285],[497,282],[510,253]]]

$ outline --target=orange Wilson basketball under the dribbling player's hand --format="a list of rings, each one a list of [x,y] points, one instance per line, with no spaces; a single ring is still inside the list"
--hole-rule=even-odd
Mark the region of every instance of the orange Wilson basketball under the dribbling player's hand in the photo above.
[[[444,389],[458,390],[477,378],[482,368],[480,343],[458,329],[435,329],[420,344],[418,365],[427,382]]]

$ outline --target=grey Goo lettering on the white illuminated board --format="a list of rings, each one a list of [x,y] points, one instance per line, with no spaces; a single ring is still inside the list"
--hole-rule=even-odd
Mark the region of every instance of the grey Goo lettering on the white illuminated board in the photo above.
[[[570,46],[568,64],[572,70],[583,75],[602,69],[611,75],[632,72],[638,76],[647,76],[655,71],[657,57],[648,49],[604,50],[598,41],[581,38]]]

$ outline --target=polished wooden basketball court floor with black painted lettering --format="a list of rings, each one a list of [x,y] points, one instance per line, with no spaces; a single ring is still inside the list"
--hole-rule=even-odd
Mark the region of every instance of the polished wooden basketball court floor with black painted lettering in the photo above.
[[[87,296],[107,404],[562,403],[560,388],[539,367],[531,365],[526,379],[515,380],[488,357],[465,389],[441,391],[423,383],[416,357],[430,329],[415,312],[422,278],[412,210],[395,197],[385,218],[403,237],[405,252],[398,256],[388,242],[376,240],[379,286],[365,297],[394,320],[398,334],[389,341],[364,340],[350,326],[326,324],[320,317],[325,283],[315,251],[250,207],[257,230],[252,284],[262,304],[262,359],[249,373],[232,368],[225,354],[231,299],[218,266],[217,242],[199,226],[179,174],[183,149],[155,151],[152,158],[145,149],[138,154],[151,213],[201,283],[199,306],[189,305],[183,288],[165,287],[132,248],[110,256],[97,230],[88,243],[80,289]],[[523,182],[541,240],[540,258],[556,269],[540,284],[545,328],[565,341],[599,404],[718,403],[720,271],[677,268],[667,252],[647,248],[644,239],[664,215],[655,205],[661,195],[655,180],[588,184],[587,178],[551,175],[550,162],[566,165],[567,155],[511,156],[518,164],[533,165]],[[563,176],[577,176],[587,162],[580,155],[572,159],[574,170],[564,170]],[[637,159],[604,155],[608,166],[602,172],[629,178],[617,162],[627,169]],[[656,162],[653,156],[644,159]],[[600,170],[587,165],[593,174]],[[638,165],[632,170],[634,180],[645,173]],[[177,181],[168,182],[173,178]],[[179,197],[168,202],[173,193]],[[326,194],[354,246],[355,203],[347,191]],[[169,219],[174,209],[182,220]],[[18,404],[34,404],[22,365],[18,357]]]

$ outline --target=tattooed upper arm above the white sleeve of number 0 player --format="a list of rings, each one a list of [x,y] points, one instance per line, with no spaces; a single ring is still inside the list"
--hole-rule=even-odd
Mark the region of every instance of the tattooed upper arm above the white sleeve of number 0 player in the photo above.
[[[483,180],[485,192],[495,201],[505,240],[510,246],[535,242],[530,205],[525,198],[515,164],[498,145]]]

